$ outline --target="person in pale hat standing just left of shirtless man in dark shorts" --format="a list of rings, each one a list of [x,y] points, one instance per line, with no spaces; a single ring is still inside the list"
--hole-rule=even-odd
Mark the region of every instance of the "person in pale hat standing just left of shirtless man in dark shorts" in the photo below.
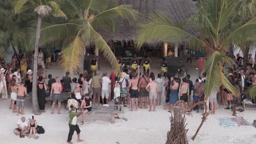
[[[121,78],[120,78],[120,89],[121,89],[120,97],[121,97],[121,101],[119,103],[121,103],[122,100],[123,100],[124,107],[126,107],[125,98],[127,97],[127,87],[129,85],[129,82],[128,82],[127,79],[125,79],[125,77],[126,77],[126,73],[122,72],[121,73]]]

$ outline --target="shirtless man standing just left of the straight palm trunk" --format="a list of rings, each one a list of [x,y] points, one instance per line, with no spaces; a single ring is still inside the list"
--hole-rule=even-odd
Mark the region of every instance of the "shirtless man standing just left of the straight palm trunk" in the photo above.
[[[25,103],[25,95],[27,95],[27,88],[24,86],[26,81],[21,81],[21,85],[18,86],[18,96],[17,96],[17,116],[19,116],[19,108],[21,106],[21,115],[24,115],[24,103]]]

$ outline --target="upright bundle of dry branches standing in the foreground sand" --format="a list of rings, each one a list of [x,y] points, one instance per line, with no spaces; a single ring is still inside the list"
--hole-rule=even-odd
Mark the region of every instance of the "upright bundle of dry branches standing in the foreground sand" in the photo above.
[[[174,117],[171,115],[171,129],[167,132],[166,144],[188,144],[187,132],[185,129],[185,114],[181,113],[181,107],[174,107]]]

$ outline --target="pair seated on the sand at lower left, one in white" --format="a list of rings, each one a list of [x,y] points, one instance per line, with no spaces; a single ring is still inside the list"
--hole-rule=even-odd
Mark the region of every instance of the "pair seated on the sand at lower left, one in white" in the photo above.
[[[21,119],[19,119],[17,123],[18,128],[14,129],[13,132],[16,135],[19,135],[20,138],[24,138],[27,135],[29,136],[28,139],[31,139],[33,135],[33,138],[36,139],[37,121],[34,119],[34,116],[28,118],[28,121],[25,117],[21,117]]]

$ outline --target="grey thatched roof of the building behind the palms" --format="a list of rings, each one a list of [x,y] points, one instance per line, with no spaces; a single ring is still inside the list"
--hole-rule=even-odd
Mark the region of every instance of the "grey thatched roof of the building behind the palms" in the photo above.
[[[196,5],[192,0],[118,0],[118,4],[131,4],[142,16],[154,11],[164,13],[173,22],[183,22],[193,16]],[[123,25],[117,28],[115,33],[100,32],[105,40],[132,40],[136,39],[138,25]],[[189,32],[193,33],[191,29]]]

